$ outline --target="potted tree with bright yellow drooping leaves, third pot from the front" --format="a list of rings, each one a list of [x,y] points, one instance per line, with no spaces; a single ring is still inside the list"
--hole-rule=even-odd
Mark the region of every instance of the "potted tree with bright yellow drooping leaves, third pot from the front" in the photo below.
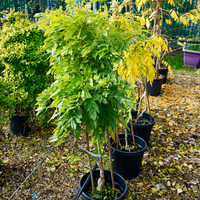
[[[137,18],[136,18],[137,19]],[[134,26],[137,25],[135,19]],[[140,32],[141,31],[141,32]],[[153,82],[155,77],[155,61],[153,55],[156,57],[161,56],[161,48],[155,48],[162,43],[165,44],[164,40],[159,37],[148,37],[148,31],[142,31],[137,27],[137,32],[140,33],[140,40],[137,38],[129,46],[129,51],[125,52],[123,55],[123,62],[118,64],[116,68],[118,73],[122,75],[123,78],[130,80],[132,84],[137,82],[140,87],[134,89],[138,91],[138,96],[136,97],[138,101],[135,101],[135,92],[129,93],[129,97],[133,98],[134,110],[127,115],[127,123],[129,126],[128,133],[131,133],[131,125],[133,125],[134,134],[143,138],[147,144],[149,143],[151,129],[155,123],[155,119],[151,116],[151,109],[148,100],[148,92],[146,87],[146,82]],[[144,102],[144,109],[142,105]],[[148,113],[147,113],[148,112]],[[131,122],[129,122],[131,120]]]

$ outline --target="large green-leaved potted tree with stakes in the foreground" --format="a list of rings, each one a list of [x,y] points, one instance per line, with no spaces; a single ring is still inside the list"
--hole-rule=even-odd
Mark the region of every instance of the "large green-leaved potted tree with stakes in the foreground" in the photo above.
[[[38,114],[44,109],[53,108],[55,112],[52,119],[55,119],[57,127],[52,139],[73,133],[75,146],[88,153],[92,192],[86,194],[87,187],[83,191],[83,199],[97,198],[105,181],[115,191],[114,197],[108,196],[107,199],[125,199],[126,182],[112,170],[110,140],[109,172],[103,170],[103,161],[97,158],[102,158],[100,149],[106,138],[109,139],[109,133],[112,134],[116,129],[116,120],[127,127],[119,110],[125,108],[130,99],[125,97],[123,89],[126,82],[117,75],[113,65],[122,60],[122,54],[130,44],[132,31],[123,28],[123,19],[111,20],[106,10],[90,11],[87,7],[80,10],[69,8],[68,5],[66,11],[60,8],[38,14],[37,17],[42,18],[39,24],[41,29],[45,29],[45,49],[51,52],[50,71],[55,78],[51,86],[37,98]],[[47,106],[50,98],[52,103]],[[86,138],[86,144],[78,147],[77,140],[82,135]],[[90,140],[98,147],[98,155],[90,152]],[[94,156],[99,166],[99,171],[94,174],[90,156]],[[80,187],[87,176],[80,180]],[[119,197],[116,196],[117,185],[121,186],[122,194]]]

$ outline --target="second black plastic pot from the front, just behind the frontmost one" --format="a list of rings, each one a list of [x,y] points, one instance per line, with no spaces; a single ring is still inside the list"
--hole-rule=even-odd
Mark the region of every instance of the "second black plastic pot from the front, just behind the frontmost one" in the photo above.
[[[125,145],[125,134],[119,134],[119,140]],[[111,138],[111,144],[114,142]],[[135,143],[141,148],[139,151],[126,152],[111,147],[113,170],[125,179],[137,177],[140,173],[143,154],[147,148],[147,143],[139,136],[135,135]],[[128,134],[128,144],[133,144],[132,135]]]

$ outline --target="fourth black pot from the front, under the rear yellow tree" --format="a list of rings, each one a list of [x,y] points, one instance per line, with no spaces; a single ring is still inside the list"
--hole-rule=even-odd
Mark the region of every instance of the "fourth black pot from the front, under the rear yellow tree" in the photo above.
[[[161,93],[164,76],[162,74],[159,74],[159,76],[162,76],[162,78],[154,79],[152,85],[150,84],[150,82],[147,82],[147,93],[151,96],[158,96]]]

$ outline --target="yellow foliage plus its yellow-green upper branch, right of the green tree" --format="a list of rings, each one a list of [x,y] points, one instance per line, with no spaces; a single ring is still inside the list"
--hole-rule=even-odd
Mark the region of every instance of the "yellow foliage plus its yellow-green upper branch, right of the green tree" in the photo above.
[[[147,78],[147,81],[152,82],[155,77],[153,55],[160,57],[162,51],[169,51],[166,42],[162,37],[154,34],[147,37],[149,32],[130,13],[114,15],[112,20],[121,22],[121,28],[132,35],[131,43],[124,51],[123,60],[115,65],[115,69],[122,78],[131,79],[132,83],[137,79],[141,80],[142,75]]]

